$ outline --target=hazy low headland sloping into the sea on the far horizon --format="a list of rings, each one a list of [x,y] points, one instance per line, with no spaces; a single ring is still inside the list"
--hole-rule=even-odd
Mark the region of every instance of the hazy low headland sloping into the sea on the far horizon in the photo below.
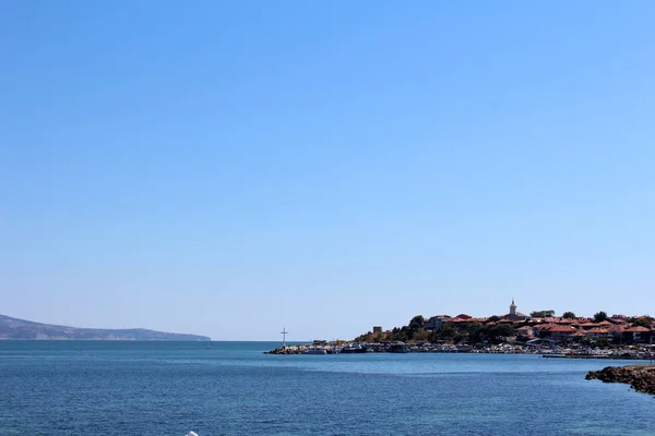
[[[76,328],[34,323],[0,315],[0,339],[13,340],[170,340],[209,341],[198,335],[167,334],[144,328]]]

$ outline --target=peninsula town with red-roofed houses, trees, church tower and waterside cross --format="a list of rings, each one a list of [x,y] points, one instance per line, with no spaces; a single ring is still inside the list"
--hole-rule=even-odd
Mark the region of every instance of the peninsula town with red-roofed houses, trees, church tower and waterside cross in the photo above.
[[[294,346],[285,341],[267,353],[472,352],[648,360],[653,358],[654,339],[655,319],[648,315],[608,315],[600,311],[593,317],[573,312],[557,316],[551,310],[526,315],[512,300],[503,315],[417,315],[405,326],[388,330],[374,326],[350,341],[314,340]]]

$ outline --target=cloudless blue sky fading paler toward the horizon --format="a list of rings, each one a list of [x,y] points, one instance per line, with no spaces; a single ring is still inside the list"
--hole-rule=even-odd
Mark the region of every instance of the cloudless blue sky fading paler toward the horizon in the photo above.
[[[0,313],[655,315],[652,1],[0,3]]]

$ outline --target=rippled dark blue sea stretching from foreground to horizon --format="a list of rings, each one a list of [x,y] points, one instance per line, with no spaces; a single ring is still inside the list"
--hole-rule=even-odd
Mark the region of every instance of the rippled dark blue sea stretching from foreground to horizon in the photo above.
[[[0,435],[655,434],[654,397],[584,379],[627,361],[277,346],[0,341]]]

